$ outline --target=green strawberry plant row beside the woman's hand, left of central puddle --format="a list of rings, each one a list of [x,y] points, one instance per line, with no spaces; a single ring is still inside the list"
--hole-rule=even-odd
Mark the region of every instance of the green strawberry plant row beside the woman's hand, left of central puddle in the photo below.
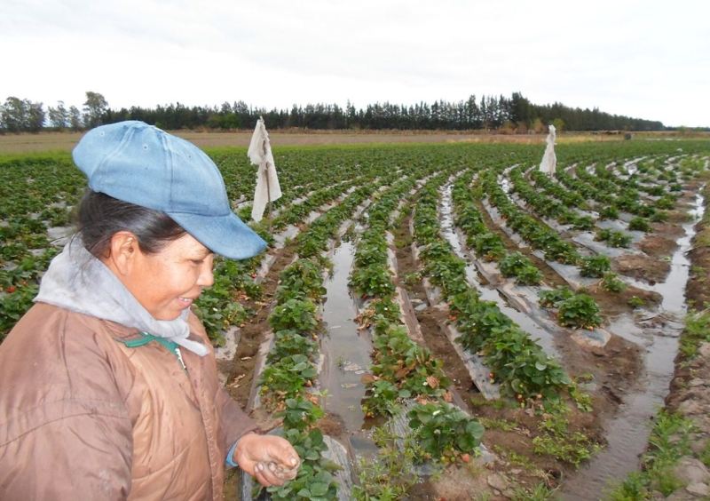
[[[396,173],[390,174],[394,178]],[[393,179],[383,179],[384,183]],[[325,293],[323,276],[327,260],[323,257],[330,241],[359,205],[366,203],[380,181],[358,187],[342,203],[316,219],[311,227],[296,238],[299,258],[288,266],[280,276],[270,323],[274,332],[274,344],[267,356],[267,366],[260,378],[259,394],[269,410],[280,410],[277,416],[284,418],[284,431],[288,441],[294,444],[301,457],[306,459],[295,481],[280,488],[270,488],[273,499],[335,499],[338,484],[332,475],[332,467],[322,457],[327,448],[322,433],[315,423],[322,417],[319,397],[309,394],[306,388],[314,386],[318,371],[314,356],[317,346],[300,338],[315,338],[319,332],[316,312]],[[301,351],[302,350],[302,351]],[[292,353],[292,352],[299,353]],[[285,410],[281,410],[283,406]],[[301,415],[297,426],[287,417]],[[327,486],[325,489],[324,486]]]

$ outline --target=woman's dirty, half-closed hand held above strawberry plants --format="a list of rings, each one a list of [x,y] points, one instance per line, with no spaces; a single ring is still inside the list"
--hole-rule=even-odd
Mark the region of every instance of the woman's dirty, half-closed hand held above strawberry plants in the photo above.
[[[301,459],[284,438],[247,433],[234,449],[233,460],[264,487],[296,478]]]

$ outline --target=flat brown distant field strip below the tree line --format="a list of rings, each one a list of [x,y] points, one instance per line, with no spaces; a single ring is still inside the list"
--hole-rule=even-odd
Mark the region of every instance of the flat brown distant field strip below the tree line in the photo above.
[[[192,141],[199,147],[246,147],[251,131],[201,132],[175,131],[178,136]],[[0,135],[0,153],[28,153],[40,151],[69,151],[82,137],[83,132],[41,132],[39,134]],[[673,133],[640,133],[635,137],[672,138]],[[694,137],[697,137],[695,135]],[[706,133],[704,138],[710,138]],[[313,131],[313,132],[272,132],[272,145],[336,145],[367,143],[442,143],[442,142],[515,142],[524,144],[544,143],[544,134],[488,134],[477,131]],[[619,140],[623,134],[563,133],[557,137],[558,143],[588,140]]]

